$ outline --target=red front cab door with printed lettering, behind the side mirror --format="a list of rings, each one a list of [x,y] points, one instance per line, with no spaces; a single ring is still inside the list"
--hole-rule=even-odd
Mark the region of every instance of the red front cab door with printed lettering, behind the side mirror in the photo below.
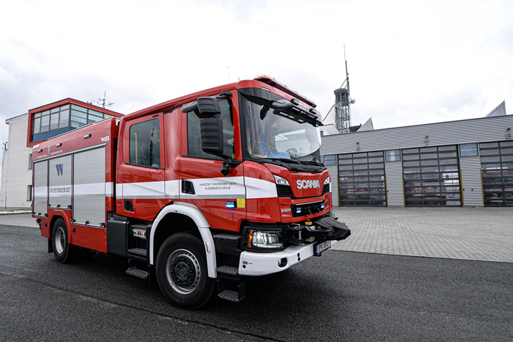
[[[234,158],[234,145],[237,142],[234,139],[234,115],[230,101],[222,99],[219,104],[224,153]],[[246,218],[243,165],[232,167],[227,176],[222,175],[223,160],[201,149],[200,119],[193,111],[184,115],[187,144],[180,158],[180,201],[197,206],[212,228],[239,231],[240,223]]]

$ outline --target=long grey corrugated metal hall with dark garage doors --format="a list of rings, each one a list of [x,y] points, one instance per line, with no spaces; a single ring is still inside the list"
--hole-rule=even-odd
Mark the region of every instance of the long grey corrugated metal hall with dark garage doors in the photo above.
[[[504,102],[482,118],[333,128],[321,148],[334,206],[513,206],[513,116]]]

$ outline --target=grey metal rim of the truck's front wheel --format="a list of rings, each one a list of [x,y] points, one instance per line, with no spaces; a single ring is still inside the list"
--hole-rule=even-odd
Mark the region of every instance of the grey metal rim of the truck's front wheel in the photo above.
[[[175,250],[166,262],[166,276],[179,294],[190,294],[200,284],[200,263],[188,250]]]

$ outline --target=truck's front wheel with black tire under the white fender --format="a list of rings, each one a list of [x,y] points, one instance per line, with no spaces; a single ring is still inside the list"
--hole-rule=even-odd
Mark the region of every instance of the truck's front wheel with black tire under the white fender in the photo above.
[[[202,241],[191,233],[176,233],[164,241],[156,260],[158,287],[171,304],[199,309],[212,296],[215,279],[208,277]]]

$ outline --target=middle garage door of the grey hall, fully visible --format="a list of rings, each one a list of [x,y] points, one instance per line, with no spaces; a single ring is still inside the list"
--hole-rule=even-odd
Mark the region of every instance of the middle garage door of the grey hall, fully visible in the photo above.
[[[402,152],[406,206],[461,206],[455,145]]]

